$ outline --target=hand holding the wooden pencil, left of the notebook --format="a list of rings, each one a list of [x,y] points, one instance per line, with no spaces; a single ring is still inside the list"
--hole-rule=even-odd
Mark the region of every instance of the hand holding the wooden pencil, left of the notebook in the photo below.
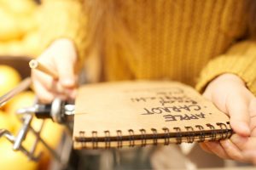
[[[49,77],[42,71],[32,70],[32,82],[40,101],[47,103],[55,97],[74,98],[77,85],[75,65],[77,54],[73,42],[59,39],[51,44],[38,61],[58,74],[58,80]]]

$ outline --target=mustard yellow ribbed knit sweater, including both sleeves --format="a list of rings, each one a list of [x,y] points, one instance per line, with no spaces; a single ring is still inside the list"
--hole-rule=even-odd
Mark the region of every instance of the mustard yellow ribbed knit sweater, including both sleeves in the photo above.
[[[83,3],[87,2],[45,0],[42,44],[68,37],[75,42],[80,59],[86,58],[90,26]],[[256,94],[256,42],[250,40],[246,2],[113,1],[113,20],[121,20],[131,41],[119,37],[114,21],[112,32],[102,29],[99,54],[104,61],[104,79],[170,79],[202,92],[214,77],[230,72],[241,77]]]

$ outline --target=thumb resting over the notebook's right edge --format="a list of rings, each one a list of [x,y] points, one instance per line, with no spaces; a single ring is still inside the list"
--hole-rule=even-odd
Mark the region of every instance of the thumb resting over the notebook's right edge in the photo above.
[[[249,136],[250,115],[247,97],[243,94],[230,94],[226,99],[226,108],[234,131],[242,136]]]

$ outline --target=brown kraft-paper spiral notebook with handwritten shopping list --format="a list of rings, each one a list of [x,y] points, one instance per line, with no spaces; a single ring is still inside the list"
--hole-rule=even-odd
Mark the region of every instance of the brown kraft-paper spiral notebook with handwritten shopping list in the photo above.
[[[229,117],[180,82],[102,82],[79,88],[75,149],[230,138]]]

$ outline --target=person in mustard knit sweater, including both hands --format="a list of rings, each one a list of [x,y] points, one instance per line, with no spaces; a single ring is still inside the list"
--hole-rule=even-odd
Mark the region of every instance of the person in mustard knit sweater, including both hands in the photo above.
[[[44,102],[74,97],[75,69],[84,59],[100,60],[101,81],[184,82],[229,115],[236,133],[201,147],[255,161],[256,22],[249,13],[255,6],[253,0],[44,0],[42,46],[49,47],[38,60],[60,78],[32,71],[35,90]]]

